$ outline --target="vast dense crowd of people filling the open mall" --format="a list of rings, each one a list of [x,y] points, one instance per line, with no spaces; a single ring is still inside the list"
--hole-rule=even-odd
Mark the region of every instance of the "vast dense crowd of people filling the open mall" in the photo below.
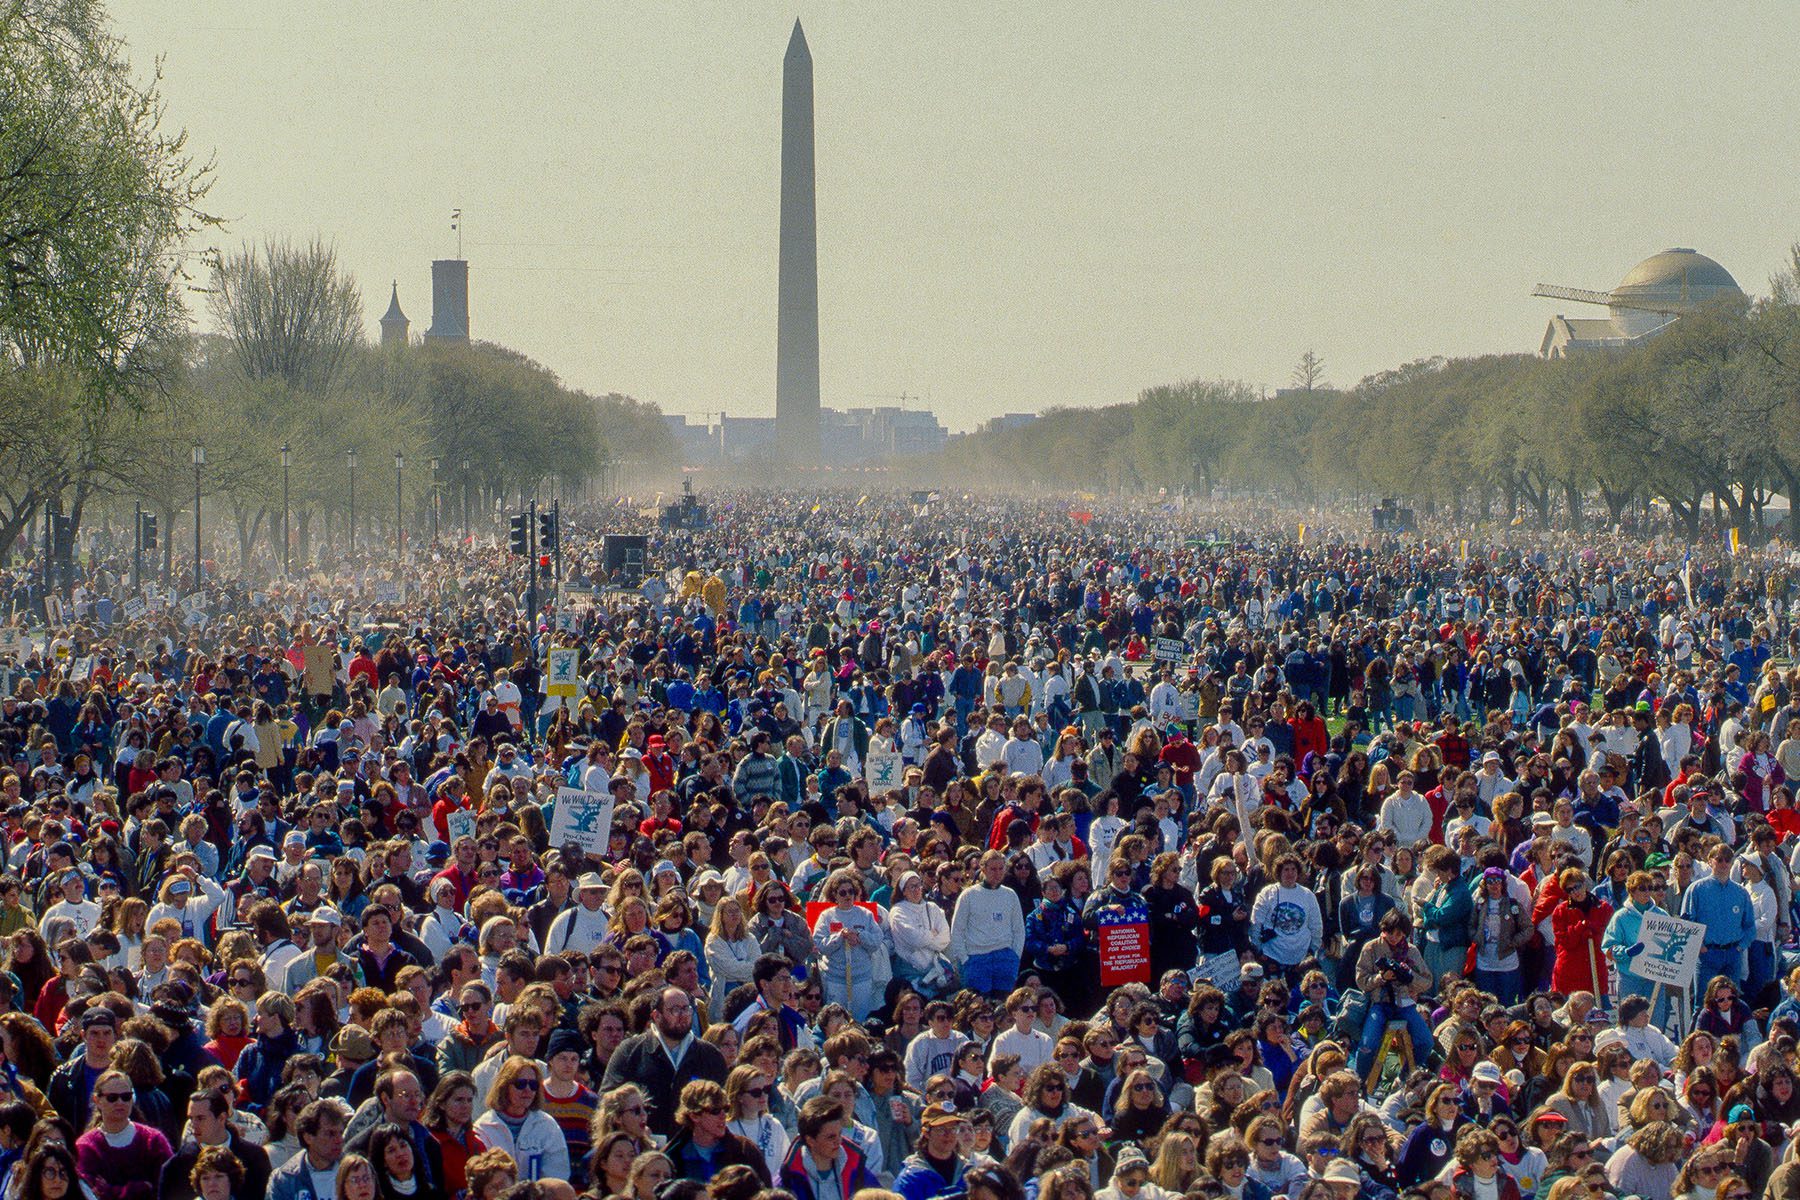
[[[1778,549],[565,518],[5,578],[0,1200],[1800,1200]]]

